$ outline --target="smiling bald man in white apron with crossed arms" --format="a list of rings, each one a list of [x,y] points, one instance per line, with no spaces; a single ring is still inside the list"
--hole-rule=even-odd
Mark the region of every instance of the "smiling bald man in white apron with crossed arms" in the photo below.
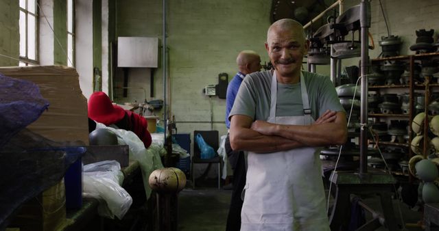
[[[248,151],[241,230],[329,230],[318,147],[344,144],[346,113],[329,77],[302,70],[302,25],[270,26],[274,70],[244,79],[230,111],[230,145]]]

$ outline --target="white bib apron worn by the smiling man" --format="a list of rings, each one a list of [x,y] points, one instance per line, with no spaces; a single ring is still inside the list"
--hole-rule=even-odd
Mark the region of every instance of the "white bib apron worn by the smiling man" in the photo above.
[[[300,92],[305,116],[276,116],[276,92],[274,72],[268,122],[295,125],[314,122],[302,74]],[[270,154],[248,152],[241,231],[330,230],[319,153],[313,147]]]

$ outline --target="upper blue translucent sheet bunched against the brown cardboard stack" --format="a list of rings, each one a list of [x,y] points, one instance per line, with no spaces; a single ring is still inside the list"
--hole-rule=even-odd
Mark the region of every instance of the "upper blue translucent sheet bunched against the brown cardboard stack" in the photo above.
[[[35,83],[0,73],[0,148],[49,107]]]

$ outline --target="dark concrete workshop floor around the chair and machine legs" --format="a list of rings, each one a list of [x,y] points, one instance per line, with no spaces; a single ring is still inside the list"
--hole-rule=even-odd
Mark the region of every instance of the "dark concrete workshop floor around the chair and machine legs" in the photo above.
[[[190,183],[188,187],[178,195],[178,230],[181,231],[222,231],[226,230],[226,218],[228,214],[228,204],[232,191],[217,189],[213,185],[209,187],[196,187],[192,189]],[[365,204],[377,211],[381,210],[377,197],[370,196],[363,198]],[[421,213],[411,210],[408,206],[398,200],[393,200],[395,216],[399,223],[405,223],[405,230],[423,230],[416,226],[422,219]],[[401,210],[401,212],[400,212]],[[403,221],[401,221],[402,214]],[[366,221],[371,219],[366,212]],[[413,227],[414,226],[414,227]],[[379,228],[377,230],[388,230]],[[401,230],[404,230],[401,226]]]

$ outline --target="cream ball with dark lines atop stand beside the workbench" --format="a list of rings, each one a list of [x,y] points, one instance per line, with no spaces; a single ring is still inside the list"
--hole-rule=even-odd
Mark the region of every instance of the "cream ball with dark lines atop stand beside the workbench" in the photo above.
[[[156,169],[150,174],[151,189],[159,193],[178,193],[185,188],[186,175],[176,167]]]

